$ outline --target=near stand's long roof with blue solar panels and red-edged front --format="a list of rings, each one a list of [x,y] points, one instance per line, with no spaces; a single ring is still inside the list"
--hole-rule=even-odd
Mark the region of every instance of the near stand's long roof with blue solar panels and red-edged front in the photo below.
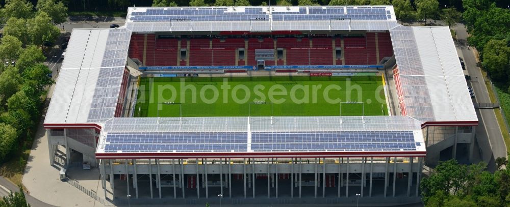
[[[425,156],[420,124],[407,116],[114,118],[96,157]]]

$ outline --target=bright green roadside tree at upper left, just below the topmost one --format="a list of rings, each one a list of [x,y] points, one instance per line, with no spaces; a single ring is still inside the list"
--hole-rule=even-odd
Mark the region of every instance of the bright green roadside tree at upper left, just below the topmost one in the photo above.
[[[46,12],[39,12],[28,20],[28,34],[35,45],[41,46],[45,41],[53,42],[59,37],[60,30],[51,21]]]

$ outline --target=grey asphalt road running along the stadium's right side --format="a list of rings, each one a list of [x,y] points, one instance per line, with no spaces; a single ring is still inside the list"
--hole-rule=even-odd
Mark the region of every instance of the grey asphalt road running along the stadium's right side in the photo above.
[[[477,103],[491,103],[486,79],[481,74],[480,68],[477,67],[476,57],[473,48],[469,48],[466,43],[468,33],[463,24],[455,27],[457,32],[458,45],[461,48],[462,56],[466,64],[467,71],[471,75],[471,87],[475,94]],[[488,162],[488,169],[496,170],[495,159],[498,157],[506,157],[506,145],[501,134],[496,115],[493,109],[475,109],[478,115],[479,126],[476,128],[476,139],[482,151],[482,161]]]

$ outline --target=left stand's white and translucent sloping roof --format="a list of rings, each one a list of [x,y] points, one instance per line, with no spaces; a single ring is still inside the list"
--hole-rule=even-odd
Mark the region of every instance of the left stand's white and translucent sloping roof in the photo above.
[[[73,29],[46,126],[114,116],[130,37],[126,29]]]

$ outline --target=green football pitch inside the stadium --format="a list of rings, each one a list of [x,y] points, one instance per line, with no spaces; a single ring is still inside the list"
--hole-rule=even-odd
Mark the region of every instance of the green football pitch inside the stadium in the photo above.
[[[380,76],[141,78],[134,116],[388,115]]]

